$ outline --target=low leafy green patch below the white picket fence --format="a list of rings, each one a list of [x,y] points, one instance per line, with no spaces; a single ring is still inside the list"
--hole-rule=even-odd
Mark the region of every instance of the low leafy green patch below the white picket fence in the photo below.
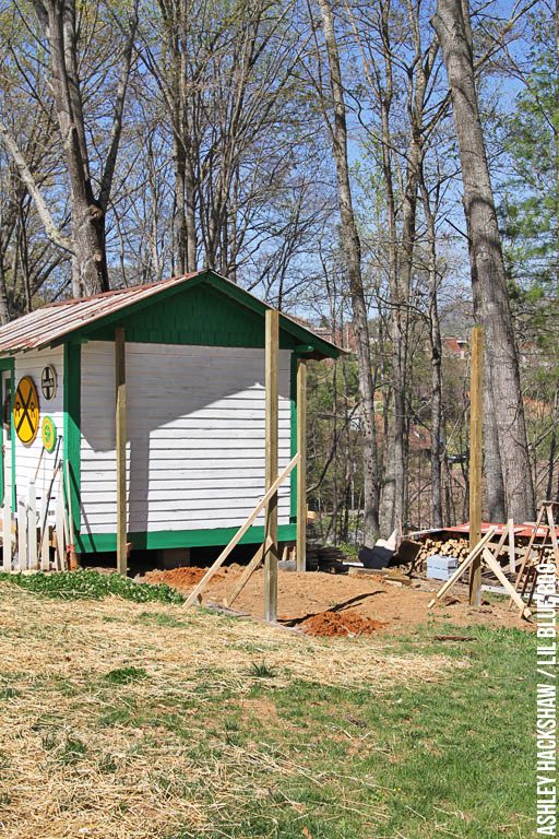
[[[62,571],[58,574],[5,574],[0,571],[0,582],[20,586],[22,589],[61,600],[102,600],[110,594],[134,603],[183,603],[185,598],[165,583],[151,586],[134,582],[119,574],[98,571]]]

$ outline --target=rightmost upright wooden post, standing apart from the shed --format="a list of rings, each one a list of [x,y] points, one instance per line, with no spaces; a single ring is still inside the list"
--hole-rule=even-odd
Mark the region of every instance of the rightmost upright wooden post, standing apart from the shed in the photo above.
[[[484,329],[472,330],[472,383],[469,387],[469,550],[481,537]],[[481,605],[481,557],[469,569],[469,604]]]

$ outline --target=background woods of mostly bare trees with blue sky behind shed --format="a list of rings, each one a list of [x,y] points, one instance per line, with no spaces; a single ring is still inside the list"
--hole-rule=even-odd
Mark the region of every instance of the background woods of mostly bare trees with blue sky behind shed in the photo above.
[[[558,497],[557,4],[4,0],[0,56],[2,323],[210,267],[318,324],[309,501],[370,544],[467,519],[480,322],[485,513]]]

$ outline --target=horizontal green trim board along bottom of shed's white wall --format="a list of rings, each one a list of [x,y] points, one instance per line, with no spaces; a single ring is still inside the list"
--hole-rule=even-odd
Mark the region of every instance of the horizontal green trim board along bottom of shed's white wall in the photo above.
[[[218,547],[227,545],[238,528],[216,528],[215,530],[177,530],[129,533],[128,539],[136,551],[162,550],[165,547]],[[280,542],[293,542],[296,537],[295,524],[281,524],[277,528]],[[264,541],[264,528],[250,528],[239,544],[258,545]],[[116,533],[82,533],[75,536],[76,548],[81,554],[115,553]]]

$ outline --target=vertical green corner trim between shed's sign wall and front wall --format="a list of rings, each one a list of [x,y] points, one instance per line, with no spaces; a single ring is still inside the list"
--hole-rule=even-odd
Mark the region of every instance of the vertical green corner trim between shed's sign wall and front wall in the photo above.
[[[80,344],[64,344],[64,462],[70,465],[70,498],[74,534],[80,532],[81,523],[81,376],[82,347]],[[64,482],[67,473],[64,470]]]

